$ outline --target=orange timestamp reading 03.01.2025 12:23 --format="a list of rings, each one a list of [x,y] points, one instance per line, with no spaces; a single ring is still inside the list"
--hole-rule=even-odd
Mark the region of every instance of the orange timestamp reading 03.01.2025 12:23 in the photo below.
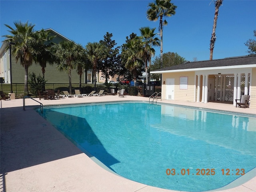
[[[194,171],[194,170],[193,170]],[[244,169],[236,169],[235,172],[234,169],[222,169],[222,175],[244,175],[245,170]],[[190,169],[181,169],[176,170],[174,168],[172,169],[166,169],[166,175],[215,175],[215,169],[196,169],[196,172],[191,173]]]

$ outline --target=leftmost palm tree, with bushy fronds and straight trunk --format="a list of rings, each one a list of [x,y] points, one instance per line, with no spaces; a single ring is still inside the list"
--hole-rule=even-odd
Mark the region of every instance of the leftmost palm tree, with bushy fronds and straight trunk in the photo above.
[[[32,64],[32,61],[36,61],[34,43],[36,41],[36,36],[34,33],[34,26],[32,24],[14,22],[16,29],[5,24],[11,33],[10,35],[5,35],[6,38],[4,42],[13,42],[12,53],[16,57],[16,62],[20,59],[20,64],[25,68],[25,78],[24,78],[24,95],[28,95],[28,67]]]

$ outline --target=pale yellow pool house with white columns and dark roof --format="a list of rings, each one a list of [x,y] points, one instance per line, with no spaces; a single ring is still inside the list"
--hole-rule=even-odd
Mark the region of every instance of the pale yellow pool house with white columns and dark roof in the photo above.
[[[256,109],[256,56],[186,62],[151,73],[162,74],[162,98],[186,102],[226,102],[250,95]]]

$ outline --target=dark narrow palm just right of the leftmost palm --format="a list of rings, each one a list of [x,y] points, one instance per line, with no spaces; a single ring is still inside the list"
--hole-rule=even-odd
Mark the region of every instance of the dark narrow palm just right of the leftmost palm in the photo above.
[[[36,61],[39,62],[42,67],[42,76],[44,79],[46,62],[53,64],[53,56],[50,52],[50,48],[54,45],[50,41],[56,36],[50,36],[50,31],[45,31],[44,29],[36,32],[36,42],[34,44],[34,49],[36,50]]]

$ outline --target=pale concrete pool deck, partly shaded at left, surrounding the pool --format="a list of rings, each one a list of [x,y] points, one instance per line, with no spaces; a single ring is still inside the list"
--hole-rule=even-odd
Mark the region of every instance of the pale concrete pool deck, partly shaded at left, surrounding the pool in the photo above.
[[[137,96],[100,96],[39,100],[44,106],[60,104],[95,103],[125,100],[144,100]],[[172,192],[128,180],[104,168],[92,160],[44,118],[33,107],[32,99],[1,100],[0,109],[0,192]],[[158,100],[158,102],[160,102]],[[255,109],[236,108],[232,104],[208,102],[164,103],[200,108],[224,110],[237,113],[256,114]],[[256,192],[254,178],[238,187],[222,192]],[[220,191],[220,190],[219,190]]]

